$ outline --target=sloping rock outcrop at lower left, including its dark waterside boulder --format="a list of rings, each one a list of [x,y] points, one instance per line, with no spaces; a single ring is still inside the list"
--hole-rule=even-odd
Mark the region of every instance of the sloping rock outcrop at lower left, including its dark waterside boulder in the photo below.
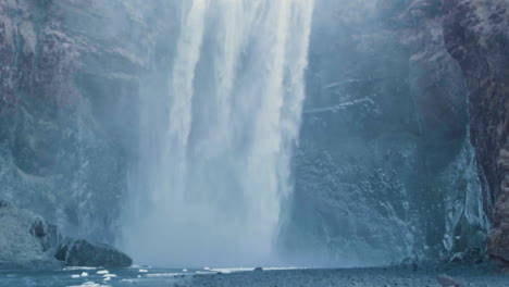
[[[62,239],[58,226],[0,200],[0,270],[61,266],[128,267],[133,260],[112,246]]]

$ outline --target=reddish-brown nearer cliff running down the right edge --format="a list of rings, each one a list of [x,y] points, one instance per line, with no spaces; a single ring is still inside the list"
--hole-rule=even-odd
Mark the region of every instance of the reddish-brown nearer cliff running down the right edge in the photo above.
[[[470,90],[471,140],[493,225],[488,253],[509,263],[509,2],[444,1],[445,40]]]

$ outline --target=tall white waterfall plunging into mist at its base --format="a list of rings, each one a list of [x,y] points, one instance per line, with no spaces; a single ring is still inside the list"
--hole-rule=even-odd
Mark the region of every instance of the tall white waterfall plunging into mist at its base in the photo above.
[[[166,266],[275,262],[313,1],[181,2],[167,92],[141,99],[126,249]]]

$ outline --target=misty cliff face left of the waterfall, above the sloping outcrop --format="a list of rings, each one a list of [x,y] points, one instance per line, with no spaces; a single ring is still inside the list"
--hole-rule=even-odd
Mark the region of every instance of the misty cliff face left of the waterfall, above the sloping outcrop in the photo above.
[[[114,238],[145,64],[135,45],[150,35],[141,22],[122,1],[0,1],[0,195],[67,235]]]

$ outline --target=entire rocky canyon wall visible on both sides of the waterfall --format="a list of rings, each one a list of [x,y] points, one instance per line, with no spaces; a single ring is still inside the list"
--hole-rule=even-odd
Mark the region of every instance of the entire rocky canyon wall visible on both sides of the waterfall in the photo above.
[[[117,239],[144,172],[139,99],[167,89],[170,2],[0,1],[1,198]],[[488,252],[509,261],[508,3],[443,2],[316,0],[288,259],[482,253],[489,219]]]

